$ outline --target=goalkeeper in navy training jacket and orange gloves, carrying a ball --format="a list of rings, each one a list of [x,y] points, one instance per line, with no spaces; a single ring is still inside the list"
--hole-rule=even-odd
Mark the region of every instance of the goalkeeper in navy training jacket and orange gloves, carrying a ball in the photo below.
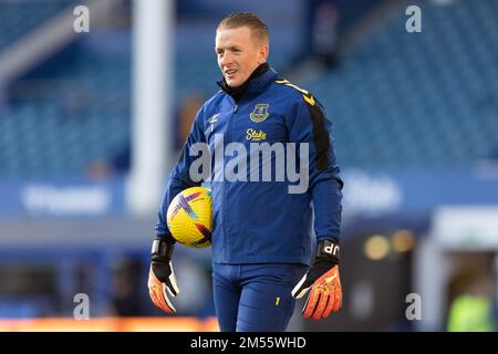
[[[198,111],[169,176],[153,242],[151,298],[165,312],[175,313],[172,296],[179,293],[172,264],[175,239],[165,219],[178,192],[201,184],[190,176],[196,159],[193,145],[203,143],[212,152],[220,136],[245,146],[255,142],[295,144],[298,149],[286,154],[299,156],[298,165],[307,171],[302,192],[289,192],[289,180],[249,178],[253,168],[260,173],[264,164],[274,163],[272,154],[269,160],[258,159],[259,166],[251,165],[242,180],[216,178],[217,169],[211,168],[215,309],[221,331],[284,331],[295,299],[304,295],[303,316],[326,317],[342,305],[339,237],[343,183],[332,146],[332,124],[317,97],[279,79],[270,67],[269,31],[257,15],[234,13],[221,20],[215,50],[221,90]],[[247,156],[234,155],[225,154],[222,165],[237,162],[237,166],[246,166]],[[310,238],[311,205],[317,240]]]

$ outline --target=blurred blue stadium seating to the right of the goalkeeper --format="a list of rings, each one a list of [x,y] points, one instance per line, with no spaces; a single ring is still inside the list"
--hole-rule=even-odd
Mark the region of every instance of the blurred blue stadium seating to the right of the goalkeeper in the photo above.
[[[469,166],[498,135],[498,3],[419,6],[423,35],[395,7],[340,70],[302,84],[330,112],[345,167]]]

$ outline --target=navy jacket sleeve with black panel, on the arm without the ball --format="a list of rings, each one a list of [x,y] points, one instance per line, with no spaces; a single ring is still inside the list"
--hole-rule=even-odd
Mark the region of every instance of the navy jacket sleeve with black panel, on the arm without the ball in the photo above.
[[[309,189],[314,208],[317,239],[339,242],[343,181],[335,162],[332,123],[321,104],[311,94],[293,105],[288,116],[289,138],[309,144]]]

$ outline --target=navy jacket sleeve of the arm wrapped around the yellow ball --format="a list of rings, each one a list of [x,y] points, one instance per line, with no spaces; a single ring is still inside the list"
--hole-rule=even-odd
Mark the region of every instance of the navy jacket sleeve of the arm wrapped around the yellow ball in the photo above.
[[[206,137],[204,135],[204,107],[197,112],[178,162],[175,164],[172,173],[169,174],[163,201],[159,207],[158,220],[155,227],[157,237],[172,236],[166,225],[166,215],[169,204],[176,195],[184,189],[200,186],[203,183],[203,180],[194,180],[189,174],[190,165],[197,158],[197,156],[191,156],[189,150],[196,143],[206,143]]]

